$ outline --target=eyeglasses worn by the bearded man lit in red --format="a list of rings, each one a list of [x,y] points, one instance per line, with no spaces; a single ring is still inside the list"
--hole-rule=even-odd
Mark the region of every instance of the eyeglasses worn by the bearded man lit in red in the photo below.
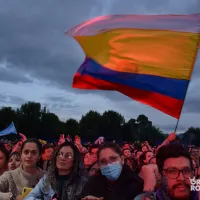
[[[193,175],[193,170],[190,168],[184,168],[182,170],[179,170],[177,168],[168,168],[163,170],[168,178],[170,179],[177,179],[180,175],[180,173],[183,174],[183,177],[188,179]]]

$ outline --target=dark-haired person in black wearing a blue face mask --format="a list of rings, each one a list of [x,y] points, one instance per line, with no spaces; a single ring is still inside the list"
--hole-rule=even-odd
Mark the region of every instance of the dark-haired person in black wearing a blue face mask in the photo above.
[[[81,200],[133,200],[143,191],[143,180],[127,165],[115,143],[103,144],[97,153],[100,173],[85,185]]]

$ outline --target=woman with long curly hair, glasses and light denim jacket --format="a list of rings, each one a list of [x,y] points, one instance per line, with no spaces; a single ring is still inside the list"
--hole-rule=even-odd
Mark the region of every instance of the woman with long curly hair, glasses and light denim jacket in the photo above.
[[[25,200],[78,200],[86,182],[80,152],[74,144],[65,142],[55,152],[48,174]]]

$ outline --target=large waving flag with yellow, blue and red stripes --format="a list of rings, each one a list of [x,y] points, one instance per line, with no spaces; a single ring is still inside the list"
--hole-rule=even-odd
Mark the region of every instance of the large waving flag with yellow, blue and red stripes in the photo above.
[[[116,90],[179,119],[200,43],[199,19],[200,13],[111,15],[68,30],[86,54],[73,87]]]

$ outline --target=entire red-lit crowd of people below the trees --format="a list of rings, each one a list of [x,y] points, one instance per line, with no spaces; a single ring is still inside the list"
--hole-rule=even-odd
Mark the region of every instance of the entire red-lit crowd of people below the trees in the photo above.
[[[0,200],[198,200],[200,149],[173,143],[118,145],[99,138],[83,146],[62,134],[55,144],[37,139],[0,145]],[[197,187],[198,188],[198,187]]]

